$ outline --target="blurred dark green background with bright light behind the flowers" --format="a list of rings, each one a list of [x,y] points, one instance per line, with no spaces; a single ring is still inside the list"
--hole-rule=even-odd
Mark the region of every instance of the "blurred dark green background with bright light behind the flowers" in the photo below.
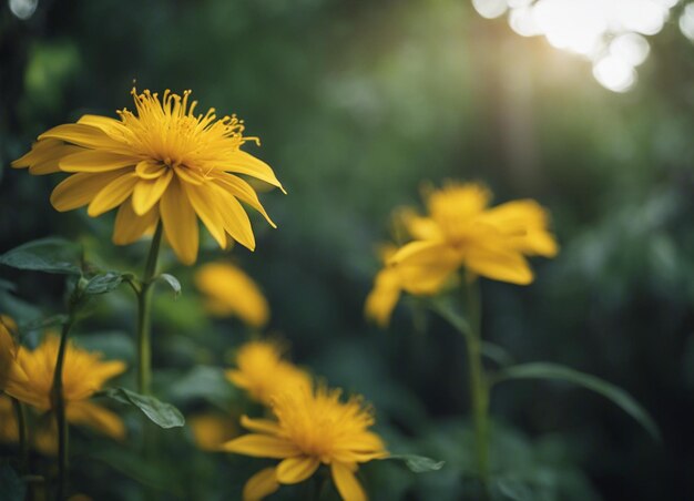
[[[374,403],[390,450],[447,461],[418,477],[364,468],[372,499],[459,500],[472,468],[465,347],[407,300],[388,330],[365,321],[376,248],[391,211],[419,204],[422,182],[479,180],[497,203],[537,198],[562,252],[533,263],[529,287],[482,284],[484,336],[519,361],[567,364],[623,387],[664,440],[585,390],[509,382],[492,398],[494,461],[509,472],[500,491],[691,499],[693,38],[694,3],[676,0],[3,1],[0,252],[62,235],[92,260],[139,270],[146,244],[112,248],[112,214],[57,213],[49,194],[60,176],[10,161],[53,125],[132,108],[133,84],[192,89],[200,110],[237,113],[263,141],[248,151],[288,195],[262,194],[279,228],[254,218],[256,252],[223,258],[262,286],[269,331],[294,361]],[[200,263],[221,257],[211,238],[203,247]],[[159,393],[186,413],[224,407],[234,395],[201,399],[185,382],[227,365],[224,352],[247,335],[204,315],[192,269],[170,254],[162,263],[184,292],[174,303],[162,287],[156,298]],[[16,284],[1,295],[13,315],[61,311],[60,277],[0,277]],[[132,361],[133,305],[127,290],[95,301],[83,342]],[[165,497],[235,499],[257,469],[196,451],[190,431],[171,433],[170,454],[150,469],[134,468],[122,444],[78,433],[74,485],[137,499],[135,477]]]

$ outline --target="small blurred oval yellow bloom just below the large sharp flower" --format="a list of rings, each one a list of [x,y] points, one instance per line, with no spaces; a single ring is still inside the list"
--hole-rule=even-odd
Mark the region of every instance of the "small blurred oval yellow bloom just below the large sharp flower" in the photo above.
[[[236,315],[258,329],[267,324],[267,300],[241,268],[227,263],[204,265],[195,274],[195,285],[207,296],[205,306],[211,314],[220,317]]]

